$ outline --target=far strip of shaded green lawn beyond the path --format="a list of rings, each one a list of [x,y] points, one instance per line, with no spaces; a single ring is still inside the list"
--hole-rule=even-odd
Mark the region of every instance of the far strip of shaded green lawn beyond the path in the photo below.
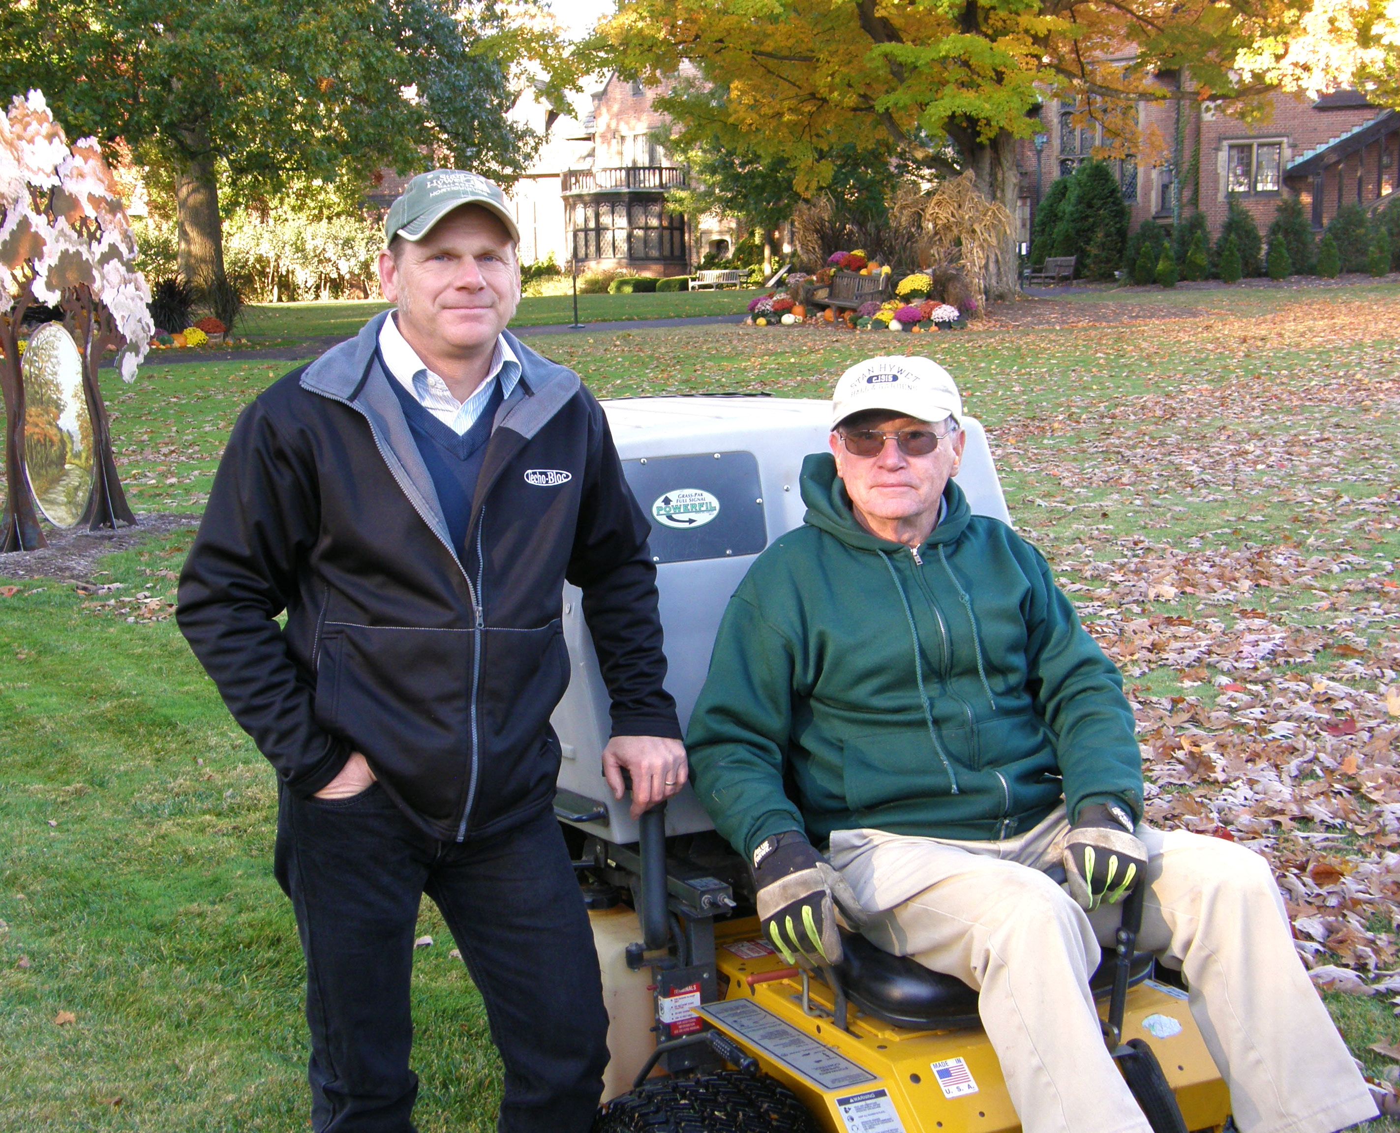
[[[661,295],[580,295],[578,318],[585,323],[630,322],[633,319],[690,319],[699,315],[742,315],[755,291],[668,291]],[[371,315],[388,304],[333,301],[308,304],[251,304],[246,322],[238,327],[251,340],[277,341],[315,339],[323,334],[354,334]],[[568,295],[521,299],[514,326],[553,326],[574,322],[574,301]]]

